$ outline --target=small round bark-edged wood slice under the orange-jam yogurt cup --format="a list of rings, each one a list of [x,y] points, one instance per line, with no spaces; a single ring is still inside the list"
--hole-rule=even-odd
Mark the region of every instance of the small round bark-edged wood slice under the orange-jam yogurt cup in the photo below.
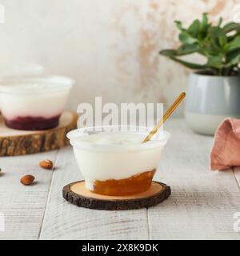
[[[161,182],[152,182],[152,186],[146,192],[122,197],[95,194],[86,189],[84,181],[70,183],[62,189],[66,201],[96,210],[130,210],[156,206],[170,194],[170,186]]]

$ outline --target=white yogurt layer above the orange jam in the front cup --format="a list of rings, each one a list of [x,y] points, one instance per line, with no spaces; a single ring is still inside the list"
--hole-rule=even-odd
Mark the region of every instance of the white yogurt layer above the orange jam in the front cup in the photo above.
[[[146,134],[102,132],[72,139],[69,135],[86,187],[92,190],[95,180],[129,178],[156,169],[169,134],[142,144]]]

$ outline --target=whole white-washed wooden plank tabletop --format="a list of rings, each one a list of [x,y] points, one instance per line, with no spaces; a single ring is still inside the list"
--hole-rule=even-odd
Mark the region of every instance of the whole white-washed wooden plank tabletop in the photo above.
[[[0,158],[0,239],[240,239],[240,169],[212,172],[212,137],[194,134],[184,120],[166,124],[171,133],[155,179],[172,194],[158,206],[106,211],[78,208],[62,198],[62,187],[82,179],[70,146],[48,153]],[[56,170],[42,170],[49,158]],[[33,174],[37,184],[19,179]]]

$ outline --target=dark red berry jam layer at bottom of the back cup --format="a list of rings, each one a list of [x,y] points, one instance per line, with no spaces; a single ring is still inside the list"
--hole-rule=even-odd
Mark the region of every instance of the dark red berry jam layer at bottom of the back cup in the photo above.
[[[60,114],[51,118],[18,117],[15,119],[4,118],[6,126],[16,130],[46,130],[58,126]]]

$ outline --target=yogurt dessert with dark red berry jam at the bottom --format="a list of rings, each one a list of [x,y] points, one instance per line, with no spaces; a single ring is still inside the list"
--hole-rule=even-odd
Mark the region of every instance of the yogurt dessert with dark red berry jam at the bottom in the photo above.
[[[58,126],[73,80],[47,76],[0,83],[0,110],[6,126],[46,130]]]

